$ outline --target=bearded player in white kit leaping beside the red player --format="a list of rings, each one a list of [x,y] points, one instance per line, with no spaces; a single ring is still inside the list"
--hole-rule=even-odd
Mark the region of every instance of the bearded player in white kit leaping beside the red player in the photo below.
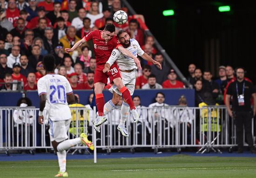
[[[117,33],[117,37],[121,44],[130,51],[135,57],[137,55],[141,56],[146,61],[149,61],[155,65],[159,69],[162,69],[162,66],[160,63],[153,60],[150,56],[148,56],[147,53],[145,53],[143,50],[141,50],[141,47],[138,43],[138,41],[134,38],[130,38],[128,33],[125,30],[120,30]],[[123,55],[119,50],[114,49],[112,51],[111,56],[109,57],[107,63],[105,64],[105,68],[103,69],[103,72],[108,72],[112,64],[114,62],[117,62],[117,65],[119,67],[119,70],[121,72],[122,77],[122,83],[124,86],[129,90],[130,94],[133,95],[134,89],[135,89],[135,71],[137,69],[136,64],[134,62],[134,59],[127,57]],[[121,98],[121,92],[117,89],[115,84],[109,89],[111,93],[113,93],[113,98],[109,100],[104,105],[104,114],[108,114],[109,111],[111,111],[115,105],[119,102]],[[117,127],[117,129],[121,132],[121,134],[125,137],[128,137],[129,134],[125,128],[125,121],[128,118],[128,112],[129,112],[129,105],[126,103],[125,100],[123,100],[122,106],[121,106],[121,119],[120,123]],[[134,121],[137,122],[137,121]],[[98,127],[99,129],[100,127]],[[97,129],[96,129],[97,130]],[[99,130],[97,130],[99,132]]]

